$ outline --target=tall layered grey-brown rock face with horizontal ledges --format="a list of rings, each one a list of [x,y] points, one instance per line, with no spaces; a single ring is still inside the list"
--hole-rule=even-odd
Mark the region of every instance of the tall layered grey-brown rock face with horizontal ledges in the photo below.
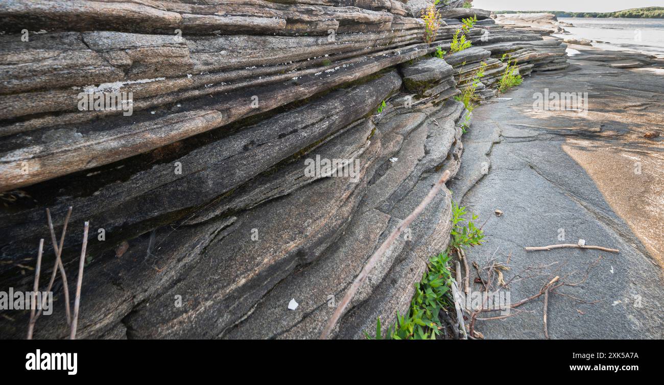
[[[80,338],[317,337],[374,250],[456,173],[454,96],[481,63],[489,97],[503,53],[523,70],[564,58],[548,52],[557,40],[483,21],[468,33],[481,48],[448,62],[431,54],[456,27],[425,44],[410,15],[396,0],[3,1],[1,287],[31,286],[45,209],[59,232],[73,206],[70,277],[91,223]],[[444,191],[334,335],[408,311],[449,230]],[[66,337],[54,290],[37,338]],[[0,337],[26,327],[27,313],[0,317]]]

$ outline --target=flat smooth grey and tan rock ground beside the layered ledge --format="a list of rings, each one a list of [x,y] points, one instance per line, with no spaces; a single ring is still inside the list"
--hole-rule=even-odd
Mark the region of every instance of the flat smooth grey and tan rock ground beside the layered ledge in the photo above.
[[[467,256],[480,266],[494,254],[502,262],[509,256],[508,277],[548,264],[560,268],[560,277],[580,272],[570,282],[601,256],[583,285],[560,289],[597,303],[550,295],[550,338],[661,339],[664,143],[643,135],[664,131],[664,76],[599,66],[583,54],[574,59],[569,70],[534,74],[505,95],[511,100],[473,111],[461,169],[449,186],[479,215],[477,222],[486,221],[485,244]],[[534,108],[534,97],[545,89],[588,92],[588,114]],[[497,209],[504,214],[496,216]],[[580,238],[620,253],[524,250]],[[511,302],[539,292],[542,279],[511,283]],[[524,312],[478,321],[475,328],[489,339],[544,338],[542,302],[519,309]]]

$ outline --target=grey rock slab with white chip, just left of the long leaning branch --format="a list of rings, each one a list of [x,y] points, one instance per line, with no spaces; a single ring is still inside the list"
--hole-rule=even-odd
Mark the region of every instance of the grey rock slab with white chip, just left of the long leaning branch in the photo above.
[[[316,339],[374,249],[397,224],[398,221],[390,221],[390,216],[378,210],[355,216],[344,236],[325,250],[319,260],[281,281],[247,319],[223,337]],[[396,245],[399,243],[403,241]],[[391,262],[393,254],[399,251],[400,248],[393,247],[382,262]],[[369,277],[370,283],[371,280]],[[295,311],[286,307],[291,298],[299,303]],[[362,299],[359,293],[353,302]]]

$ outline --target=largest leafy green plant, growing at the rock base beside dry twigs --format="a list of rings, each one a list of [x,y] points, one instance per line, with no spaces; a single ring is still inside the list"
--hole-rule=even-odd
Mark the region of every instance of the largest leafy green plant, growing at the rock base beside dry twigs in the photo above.
[[[422,280],[415,284],[415,294],[408,315],[396,313],[396,324],[390,326],[385,339],[436,339],[444,328],[440,311],[454,303],[452,299],[452,273],[448,268],[450,254],[455,248],[481,244],[484,234],[475,227],[473,215],[465,220],[465,207],[452,202],[452,233],[450,246],[445,252],[430,258]],[[383,339],[380,319],[376,319],[376,335],[365,332],[367,339]]]

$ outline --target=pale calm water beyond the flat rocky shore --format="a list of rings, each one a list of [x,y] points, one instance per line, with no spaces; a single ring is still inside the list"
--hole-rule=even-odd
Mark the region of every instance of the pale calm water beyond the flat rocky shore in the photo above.
[[[559,17],[558,20],[574,25],[574,27],[563,27],[574,37],[610,43],[592,43],[598,48],[635,50],[664,56],[664,19]],[[569,36],[564,35],[564,37]]]

